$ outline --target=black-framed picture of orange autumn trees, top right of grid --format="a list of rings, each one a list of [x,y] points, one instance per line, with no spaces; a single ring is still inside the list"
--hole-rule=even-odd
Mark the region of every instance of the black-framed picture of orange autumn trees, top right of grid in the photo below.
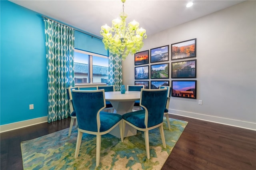
[[[196,38],[171,44],[171,60],[196,57]]]

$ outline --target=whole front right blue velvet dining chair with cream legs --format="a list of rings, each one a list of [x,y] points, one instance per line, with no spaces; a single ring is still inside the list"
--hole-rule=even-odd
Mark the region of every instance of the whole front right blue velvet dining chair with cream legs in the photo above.
[[[123,132],[126,124],[144,131],[146,156],[150,159],[148,131],[159,127],[163,147],[166,148],[163,128],[164,108],[166,106],[167,88],[165,89],[141,89],[139,111],[123,115]]]

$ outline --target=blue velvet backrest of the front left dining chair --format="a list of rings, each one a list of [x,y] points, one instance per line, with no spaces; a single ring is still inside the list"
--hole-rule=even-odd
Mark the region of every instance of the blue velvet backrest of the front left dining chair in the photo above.
[[[106,107],[104,89],[72,90],[78,128],[92,132],[100,131],[100,111]]]

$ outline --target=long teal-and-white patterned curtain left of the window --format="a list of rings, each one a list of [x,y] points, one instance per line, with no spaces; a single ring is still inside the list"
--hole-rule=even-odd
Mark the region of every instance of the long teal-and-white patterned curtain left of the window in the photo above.
[[[66,88],[74,87],[74,29],[44,19],[48,71],[48,123],[68,118]]]

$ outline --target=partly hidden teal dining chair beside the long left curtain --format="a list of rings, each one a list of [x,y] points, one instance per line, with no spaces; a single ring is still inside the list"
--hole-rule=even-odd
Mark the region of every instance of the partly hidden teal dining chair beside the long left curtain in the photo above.
[[[72,131],[72,127],[74,125],[74,121],[76,120],[76,111],[74,111],[73,101],[72,101],[72,94],[71,94],[72,89],[79,90],[79,87],[68,87],[66,89],[67,90],[68,105],[69,105],[69,108],[70,108],[70,117],[71,117],[68,136],[70,136],[71,131]],[[77,122],[76,122],[76,127],[77,127]]]

